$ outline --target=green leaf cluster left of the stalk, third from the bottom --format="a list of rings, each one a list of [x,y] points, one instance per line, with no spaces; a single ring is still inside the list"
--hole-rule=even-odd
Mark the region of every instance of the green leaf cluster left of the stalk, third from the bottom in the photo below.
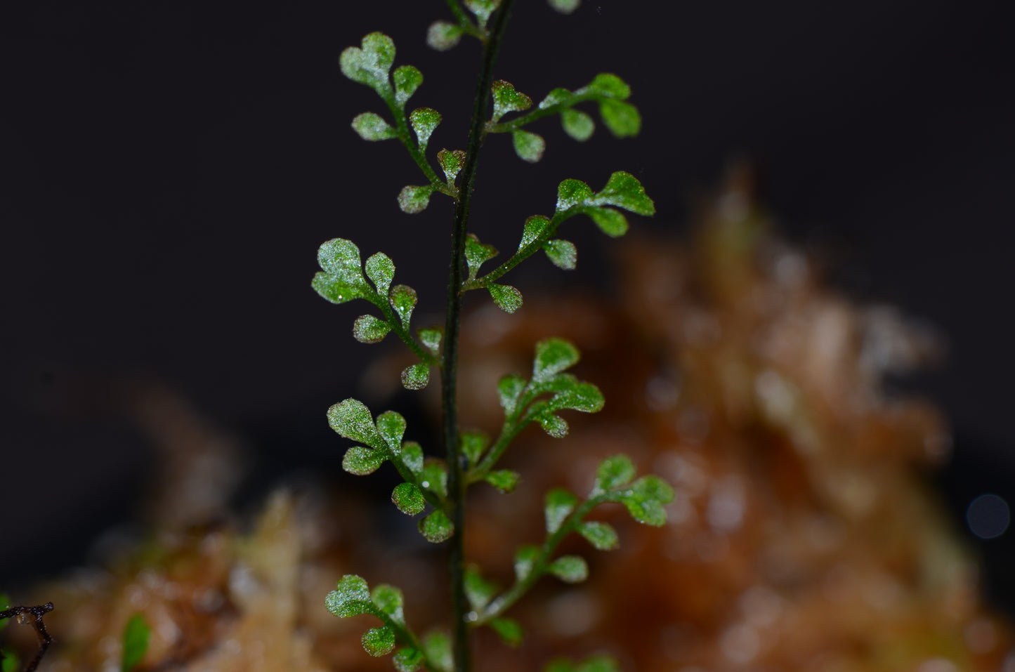
[[[318,294],[332,304],[363,298],[381,311],[380,318],[373,315],[356,318],[353,338],[360,343],[379,343],[394,332],[419,358],[402,372],[402,385],[408,390],[426,387],[430,367],[439,363],[442,332],[428,327],[418,330],[413,338],[410,322],[418,300],[416,290],[404,284],[392,286],[395,264],[388,255],[379,252],[367,258],[364,275],[359,248],[352,241],[335,238],[318,249],[318,264],[321,271],[311,282]]]

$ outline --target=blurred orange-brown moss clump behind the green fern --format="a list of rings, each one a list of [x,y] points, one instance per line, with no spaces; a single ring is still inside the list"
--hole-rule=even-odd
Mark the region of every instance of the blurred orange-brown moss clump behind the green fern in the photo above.
[[[477,656],[481,669],[537,670],[591,651],[641,672],[1015,665],[1010,625],[984,607],[976,566],[920,476],[947,457],[948,428],[933,405],[882,388],[886,373],[936,354],[933,334],[823,287],[771,236],[742,176],[700,219],[690,247],[626,248],[617,306],[568,297],[466,320],[460,387],[489,391],[462,399],[466,424],[499,426],[495,379],[524,373],[548,334],[578,344],[579,375],[607,400],[572,422],[577,472],[561,445],[529,431],[506,458],[523,473],[516,493],[477,488],[470,558],[509,581],[513,544],[541,538],[542,493],[587,491],[598,461],[619,451],[677,491],[662,530],[605,511],[620,550],[576,541],[589,582],[547,581],[523,602],[517,651],[479,633],[490,654]],[[49,669],[112,672],[136,611],[154,629],[146,670],[390,669],[359,648],[361,623],[325,611],[324,595],[358,567],[403,587],[422,626],[442,613],[427,605],[443,601],[443,569],[413,543],[362,541],[369,510],[327,501],[278,494],[250,533],[156,535],[130,562],[47,588],[62,645]]]

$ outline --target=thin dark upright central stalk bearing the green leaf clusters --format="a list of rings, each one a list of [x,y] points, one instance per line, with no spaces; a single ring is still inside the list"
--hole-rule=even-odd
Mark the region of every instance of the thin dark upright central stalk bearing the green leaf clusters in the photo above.
[[[444,365],[441,376],[441,401],[444,410],[444,440],[448,459],[448,492],[455,526],[449,553],[451,580],[452,636],[456,672],[471,672],[472,651],[469,646],[469,628],[465,615],[469,603],[465,597],[465,488],[462,474],[462,456],[458,442],[458,339],[462,319],[462,281],[465,268],[465,239],[469,223],[469,205],[476,180],[479,149],[483,144],[489,90],[493,80],[500,41],[514,0],[503,0],[493,17],[489,40],[483,43],[483,64],[476,82],[476,97],[466,146],[462,183],[455,202],[455,224],[452,230],[451,268],[448,272],[448,317],[445,326]]]

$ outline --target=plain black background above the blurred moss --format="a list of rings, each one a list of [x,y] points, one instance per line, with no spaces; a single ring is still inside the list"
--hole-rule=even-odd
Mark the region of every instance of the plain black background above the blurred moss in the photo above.
[[[940,480],[960,522],[976,494],[1010,496],[1015,471],[1009,6],[623,0],[561,16],[520,1],[495,76],[538,100],[617,72],[644,130],[617,141],[600,129],[579,145],[547,120],[534,166],[492,138],[473,226],[510,249],[527,215],[552,209],[559,180],[598,188],[626,170],[659,211],[636,225],[679,232],[694,194],[749,157],[783,230],[839,251],[840,286],[947,334],[947,362],[904,385],[956,423],[956,467]],[[310,290],[315,251],[337,236],[364,256],[383,249],[396,282],[420,291],[417,311],[433,314],[443,273],[427,269],[446,268],[450,206],[398,210],[418,171],[396,143],[349,129],[382,105],[337,56],[370,30],[391,35],[396,65],[425,77],[410,105],[445,115],[431,146],[456,148],[478,46],[426,48],[427,24],[448,18],[435,0],[3,11],[0,583],[15,583],[80,557],[150,468],[126,423],[54,411],[47,400],[68,379],[97,390],[104,377],[149,376],[268,462],[339,452],[324,410],[355,392],[376,351],[347,335],[356,309]],[[599,237],[573,240],[584,275],[533,263],[519,286],[602,276]],[[983,545],[989,560],[1010,557],[1010,537]]]

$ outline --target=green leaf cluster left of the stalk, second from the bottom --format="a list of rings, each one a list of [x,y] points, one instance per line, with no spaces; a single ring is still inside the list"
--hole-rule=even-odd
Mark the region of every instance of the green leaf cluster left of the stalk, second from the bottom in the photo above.
[[[441,460],[424,459],[419,444],[402,441],[404,417],[386,411],[375,422],[361,401],[346,399],[328,409],[328,424],[341,436],[360,444],[345,452],[342,469],[365,476],[390,461],[404,479],[392,490],[392,503],[406,516],[421,514],[427,503],[432,507],[419,521],[419,532],[427,541],[439,543],[454,534],[447,514],[448,467]]]

